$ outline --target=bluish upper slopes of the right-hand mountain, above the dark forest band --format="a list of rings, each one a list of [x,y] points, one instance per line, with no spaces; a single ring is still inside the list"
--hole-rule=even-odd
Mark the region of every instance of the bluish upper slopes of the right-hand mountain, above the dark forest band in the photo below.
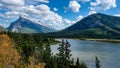
[[[64,29],[63,31],[86,30],[92,28],[108,29],[120,32],[120,17],[105,15],[101,13],[89,15],[78,21],[74,25]]]

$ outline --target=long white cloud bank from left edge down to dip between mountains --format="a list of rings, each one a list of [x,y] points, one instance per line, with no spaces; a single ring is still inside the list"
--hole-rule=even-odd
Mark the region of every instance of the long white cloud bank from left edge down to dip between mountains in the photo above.
[[[21,10],[8,11],[5,14],[0,14],[4,18],[16,18],[19,15],[25,15],[32,18],[41,19],[42,22],[47,23],[55,27],[56,29],[63,29],[69,26],[71,23],[67,19],[63,19],[60,15],[50,10],[45,4],[40,5],[28,5],[21,7]],[[68,25],[66,25],[68,24]]]

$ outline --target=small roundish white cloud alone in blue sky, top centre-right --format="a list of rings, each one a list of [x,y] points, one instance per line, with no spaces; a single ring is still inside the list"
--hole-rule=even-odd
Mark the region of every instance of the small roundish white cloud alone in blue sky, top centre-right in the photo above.
[[[79,12],[80,7],[81,7],[81,5],[77,1],[70,1],[69,2],[69,8],[73,12]]]

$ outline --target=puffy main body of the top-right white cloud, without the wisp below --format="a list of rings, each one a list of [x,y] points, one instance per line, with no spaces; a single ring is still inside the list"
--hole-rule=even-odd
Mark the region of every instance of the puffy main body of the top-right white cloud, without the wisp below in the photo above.
[[[90,4],[96,10],[108,10],[117,6],[116,0],[96,0],[96,2],[91,2]]]

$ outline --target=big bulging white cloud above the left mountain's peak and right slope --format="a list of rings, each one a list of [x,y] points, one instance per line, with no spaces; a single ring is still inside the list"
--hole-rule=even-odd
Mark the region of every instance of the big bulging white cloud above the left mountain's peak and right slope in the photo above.
[[[57,13],[51,11],[47,5],[31,5],[27,6],[24,10],[25,13],[29,14],[29,16],[42,19],[44,22],[57,29],[64,28],[63,18]]]

